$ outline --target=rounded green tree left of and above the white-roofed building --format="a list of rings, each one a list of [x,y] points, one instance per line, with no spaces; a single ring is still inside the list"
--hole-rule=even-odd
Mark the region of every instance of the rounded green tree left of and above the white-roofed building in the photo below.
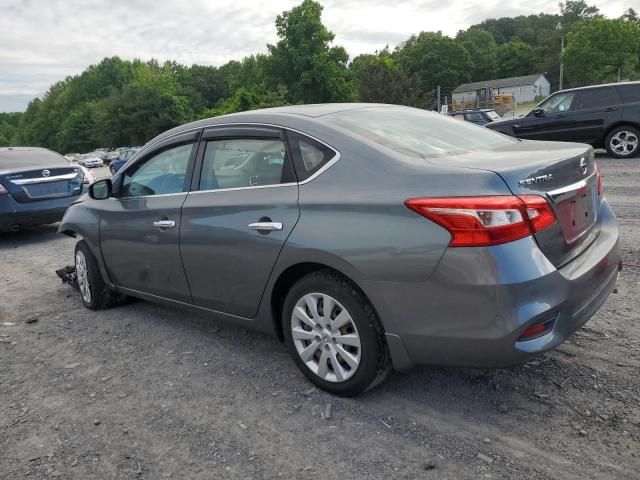
[[[438,85],[446,93],[470,80],[469,53],[442,32],[412,35],[398,46],[396,54],[402,69],[420,78],[422,93],[432,94]]]

